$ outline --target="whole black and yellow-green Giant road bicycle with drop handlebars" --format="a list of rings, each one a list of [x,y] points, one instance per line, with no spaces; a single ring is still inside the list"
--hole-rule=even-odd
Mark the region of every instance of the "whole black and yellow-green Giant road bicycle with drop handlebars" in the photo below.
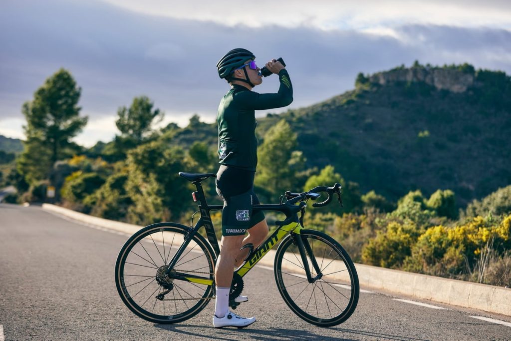
[[[178,323],[199,313],[214,299],[215,264],[220,253],[211,211],[201,181],[215,174],[179,172],[197,188],[192,193],[200,218],[193,225],[173,222],[151,224],[131,236],[115,263],[115,284],[126,306],[136,315],[158,324]],[[301,319],[322,327],[346,321],[357,307],[359,281],[344,248],[332,237],[304,228],[309,199],[328,197],[313,206],[326,206],[336,194],[342,206],[341,186],[318,186],[308,192],[286,192],[279,204],[259,204],[253,212],[276,211],[286,215],[277,229],[257,248],[247,244],[248,255],[234,271],[229,306],[243,290],[243,277],[270,249],[274,253],[275,282],[284,302]],[[196,212],[196,213],[197,213]],[[298,213],[300,216],[298,217]],[[204,227],[206,238],[199,234]],[[273,253],[273,252],[272,252]]]

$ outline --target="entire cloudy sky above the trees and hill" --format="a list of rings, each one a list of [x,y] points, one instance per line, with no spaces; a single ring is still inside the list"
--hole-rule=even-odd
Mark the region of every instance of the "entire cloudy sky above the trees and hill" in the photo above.
[[[0,134],[24,138],[21,105],[60,67],[82,88],[89,121],[75,141],[84,146],[119,134],[118,108],[141,95],[165,111],[160,125],[185,126],[194,114],[214,122],[228,90],[216,63],[240,47],[259,65],[286,61],[294,101],[270,112],[326,100],[352,89],[359,72],[414,60],[509,75],[511,2],[2,0]],[[270,76],[254,90],[277,88]]]

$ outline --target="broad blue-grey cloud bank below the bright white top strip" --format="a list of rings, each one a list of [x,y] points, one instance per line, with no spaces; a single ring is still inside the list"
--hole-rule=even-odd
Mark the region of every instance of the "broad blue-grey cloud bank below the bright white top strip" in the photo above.
[[[511,34],[503,29],[400,25],[324,30],[275,22],[229,27],[145,15],[98,1],[7,1],[0,11],[0,125],[7,118],[22,118],[21,104],[60,67],[82,87],[80,105],[89,116],[78,138],[83,143],[111,138],[116,128],[106,118],[140,95],[166,111],[167,121],[183,124],[198,113],[213,122],[228,88],[215,65],[236,47],[250,49],[260,65],[284,58],[295,90],[291,108],[353,88],[359,72],[410,65],[415,59],[511,71]],[[255,90],[276,88],[273,76]],[[102,123],[94,125],[97,120]],[[107,125],[104,137],[91,130]]]

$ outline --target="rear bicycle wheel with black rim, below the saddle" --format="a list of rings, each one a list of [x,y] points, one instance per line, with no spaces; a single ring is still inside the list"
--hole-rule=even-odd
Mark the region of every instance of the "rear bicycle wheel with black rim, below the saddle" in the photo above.
[[[162,266],[170,262],[188,230],[186,226],[177,223],[152,224],[131,236],[119,252],[115,262],[117,291],[124,304],[146,321],[173,324],[191,319],[204,309],[213,297],[214,288],[211,285],[168,280],[172,282],[173,288],[165,295],[165,300],[156,299],[156,295],[166,290],[156,281],[156,273],[158,270],[160,273],[165,270]],[[179,272],[205,272],[206,274],[201,276],[213,280],[215,262],[216,256],[211,245],[201,235],[196,234],[174,268]],[[136,273],[133,274],[133,271]],[[148,283],[151,278],[153,279]],[[139,296],[142,300],[136,298],[140,293],[144,293]],[[142,303],[146,297],[146,301]],[[154,302],[151,298],[154,298]],[[148,301],[151,301],[149,305]],[[166,301],[169,302],[167,309]],[[187,301],[190,301],[190,305]]]

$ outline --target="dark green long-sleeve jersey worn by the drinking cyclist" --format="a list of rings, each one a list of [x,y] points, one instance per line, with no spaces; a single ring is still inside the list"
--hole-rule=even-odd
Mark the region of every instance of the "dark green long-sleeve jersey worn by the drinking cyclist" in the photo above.
[[[278,73],[276,94],[258,94],[234,84],[218,107],[218,157],[220,164],[249,171],[257,167],[255,110],[281,108],[293,101],[293,86],[288,72]]]

